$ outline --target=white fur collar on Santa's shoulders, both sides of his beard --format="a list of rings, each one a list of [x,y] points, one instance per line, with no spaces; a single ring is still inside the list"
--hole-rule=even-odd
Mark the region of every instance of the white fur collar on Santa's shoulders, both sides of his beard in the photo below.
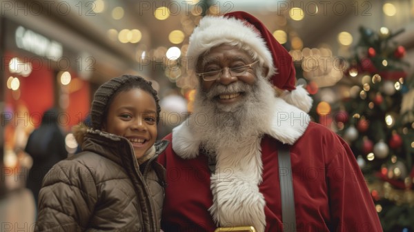
[[[311,117],[279,97],[275,97],[273,106],[269,107],[272,108],[273,117],[268,131],[264,133],[284,144],[294,144],[306,131]],[[192,121],[194,118],[190,115],[185,122],[172,130],[172,149],[183,159],[193,159],[199,153],[201,141],[190,131]]]

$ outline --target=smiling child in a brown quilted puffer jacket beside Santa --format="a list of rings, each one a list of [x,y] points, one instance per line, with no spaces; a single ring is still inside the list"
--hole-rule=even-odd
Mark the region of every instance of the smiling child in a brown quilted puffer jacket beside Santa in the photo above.
[[[43,179],[35,231],[160,231],[165,169],[156,161],[159,99],[132,75],[95,92],[92,128],[75,137],[83,152],[53,166]]]

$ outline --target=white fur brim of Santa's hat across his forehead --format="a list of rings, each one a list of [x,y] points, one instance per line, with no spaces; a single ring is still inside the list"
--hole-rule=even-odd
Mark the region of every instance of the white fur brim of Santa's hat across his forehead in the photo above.
[[[200,55],[223,43],[248,46],[253,52],[253,59],[258,59],[261,66],[269,68],[267,77],[275,73],[270,50],[255,27],[239,19],[223,16],[206,16],[194,29],[186,55],[190,60],[190,69],[195,68]]]

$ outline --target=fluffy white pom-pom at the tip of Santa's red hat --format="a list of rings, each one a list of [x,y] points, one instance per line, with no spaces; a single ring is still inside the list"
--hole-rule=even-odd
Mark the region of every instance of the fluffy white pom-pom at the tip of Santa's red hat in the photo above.
[[[280,96],[288,104],[296,106],[297,108],[304,110],[306,113],[311,110],[313,99],[309,96],[308,91],[304,89],[302,85],[296,86],[295,90],[284,91]]]

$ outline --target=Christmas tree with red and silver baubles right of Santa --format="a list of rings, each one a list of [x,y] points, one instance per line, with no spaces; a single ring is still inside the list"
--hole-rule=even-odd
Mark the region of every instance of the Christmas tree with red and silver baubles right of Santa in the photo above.
[[[407,77],[406,51],[393,41],[403,31],[359,32],[335,126],[366,177],[384,231],[414,231],[414,76]]]

